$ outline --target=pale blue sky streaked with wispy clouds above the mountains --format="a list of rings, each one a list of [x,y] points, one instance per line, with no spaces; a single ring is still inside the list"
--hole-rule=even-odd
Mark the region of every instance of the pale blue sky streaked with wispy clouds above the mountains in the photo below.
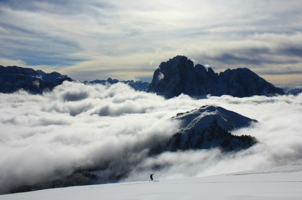
[[[75,80],[150,82],[162,61],[247,67],[277,86],[302,85],[302,3],[253,1],[0,2],[0,65]]]

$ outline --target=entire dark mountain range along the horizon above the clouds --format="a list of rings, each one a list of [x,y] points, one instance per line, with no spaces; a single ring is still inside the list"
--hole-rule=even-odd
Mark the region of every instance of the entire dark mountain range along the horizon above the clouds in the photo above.
[[[52,90],[63,81],[73,80],[57,72],[47,74],[41,70],[35,71],[19,66],[5,67],[0,65],[1,93],[13,93],[23,89],[32,94],[41,94],[45,90]],[[211,68],[206,70],[201,64],[194,66],[193,61],[180,55],[162,62],[154,72],[151,83],[133,80],[119,81],[111,78],[83,83],[102,85],[124,83],[134,90],[152,92],[166,98],[176,97],[182,93],[191,97],[203,97],[208,94],[212,96],[250,97],[276,94],[297,95],[302,92],[301,88],[296,88],[286,89],[285,93],[283,89],[273,86],[247,68],[228,69],[218,75]]]

